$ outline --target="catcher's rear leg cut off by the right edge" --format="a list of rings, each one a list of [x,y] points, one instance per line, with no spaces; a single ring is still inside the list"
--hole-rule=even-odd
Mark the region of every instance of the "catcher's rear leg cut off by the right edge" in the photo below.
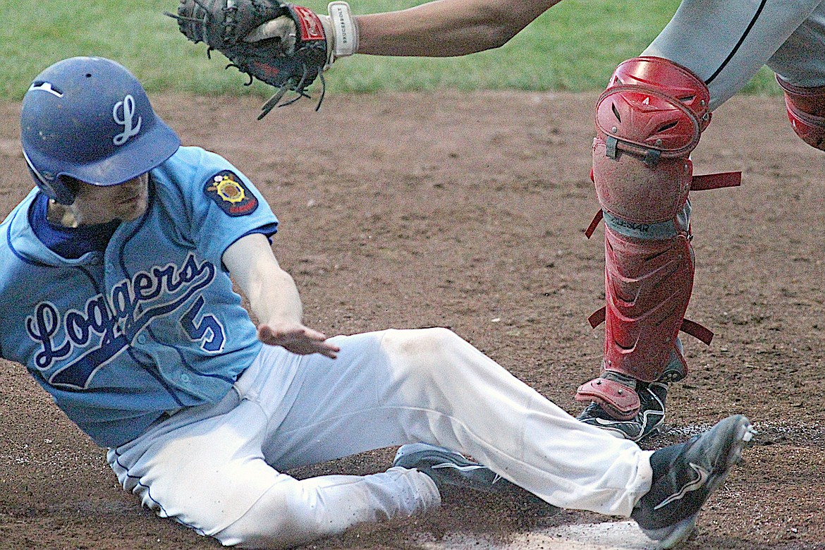
[[[790,35],[768,61],[785,90],[794,131],[805,143],[825,149],[825,2]]]

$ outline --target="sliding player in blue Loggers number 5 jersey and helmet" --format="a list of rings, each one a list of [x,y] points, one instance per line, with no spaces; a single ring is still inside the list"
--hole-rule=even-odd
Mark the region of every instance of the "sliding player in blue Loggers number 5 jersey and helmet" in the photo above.
[[[225,545],[290,547],[462,487],[629,516],[671,548],[752,439],[738,415],[643,451],[446,329],[304,326],[264,197],[181,147],[118,63],[46,68],[21,143],[36,188],[0,225],[2,357],[108,449],[125,490]],[[385,472],[283,473],[389,445]]]

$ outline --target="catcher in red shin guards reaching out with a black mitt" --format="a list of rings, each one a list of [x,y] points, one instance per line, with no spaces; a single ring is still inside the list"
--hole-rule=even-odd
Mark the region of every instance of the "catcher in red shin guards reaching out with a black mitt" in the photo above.
[[[237,35],[224,32],[223,41],[214,37],[227,26],[219,11],[226,2],[194,2],[181,0],[176,16],[181,31],[223,51],[250,75],[281,87],[273,98],[277,101],[288,89],[305,95],[307,74],[312,82],[335,59],[351,54],[451,56],[501,46],[559,0],[506,5],[438,0],[362,16],[353,16],[346,2],[332,2],[329,16],[290,6],[288,12],[299,14],[295,22],[287,14],[262,25],[271,13],[256,19],[248,15],[248,0],[238,0],[230,3],[247,18],[235,18],[230,10],[229,22],[237,19],[245,26],[232,27]],[[252,28],[252,23],[259,25]],[[323,29],[325,40],[308,28]],[[237,40],[227,42],[226,36]],[[273,47],[272,39],[275,56],[259,46]],[[302,52],[319,43],[327,55],[312,65]],[[262,70],[281,68],[284,59],[304,59],[303,76],[273,82],[272,71]],[[587,403],[580,421],[629,440],[650,435],[664,421],[668,384],[687,374],[679,331],[705,343],[713,337],[684,318],[694,280],[688,194],[737,186],[739,174],[694,176],[690,155],[711,111],[764,64],[785,91],[796,134],[825,149],[823,0],[683,0],[653,44],[640,57],[620,63],[599,98],[592,179],[601,210],[587,235],[604,219],[606,306],[590,320],[594,327],[606,321],[606,331],[601,374],[577,391],[576,399]]]

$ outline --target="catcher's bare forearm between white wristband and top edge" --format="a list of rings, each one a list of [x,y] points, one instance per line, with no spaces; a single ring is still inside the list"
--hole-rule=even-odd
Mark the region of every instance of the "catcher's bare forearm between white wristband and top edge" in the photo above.
[[[436,0],[356,16],[358,54],[446,57],[504,45],[560,0]]]

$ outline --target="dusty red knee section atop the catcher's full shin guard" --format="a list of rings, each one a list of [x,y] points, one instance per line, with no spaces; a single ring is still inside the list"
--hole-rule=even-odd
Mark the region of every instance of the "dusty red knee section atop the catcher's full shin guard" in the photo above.
[[[639,57],[616,68],[596,104],[593,180],[601,207],[631,223],[664,222],[684,206],[691,151],[710,122],[709,92],[686,68]]]

